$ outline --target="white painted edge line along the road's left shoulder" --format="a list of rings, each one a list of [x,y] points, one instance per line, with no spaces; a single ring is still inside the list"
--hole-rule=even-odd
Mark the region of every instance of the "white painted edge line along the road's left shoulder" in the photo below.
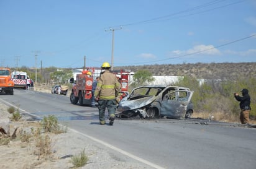
[[[6,103],[6,105],[14,106],[15,108],[18,108],[17,106],[12,105],[11,103],[6,102],[5,100],[2,100],[2,98],[0,98],[0,100],[1,100],[2,102]],[[19,108],[19,110],[22,110],[22,109]],[[30,116],[34,116],[34,117],[40,118],[40,116],[32,115],[31,113],[29,113],[29,112],[27,112],[27,111],[25,111],[25,110],[22,110],[22,111],[24,111],[24,113],[27,113],[27,114],[30,115]],[[137,160],[137,161],[139,161],[139,162],[145,163],[146,165],[149,165],[150,167],[157,168],[157,169],[165,169],[165,168],[163,168],[163,167],[160,167],[159,165],[156,165],[155,163],[149,162],[149,161],[147,161],[147,160],[145,160],[145,159],[143,159],[143,158],[137,157],[136,155],[130,154],[129,152],[126,152],[126,151],[124,151],[124,150],[122,150],[122,149],[119,149],[119,148],[117,148],[117,147],[114,147],[114,145],[108,144],[108,143],[103,142],[103,141],[101,141],[101,140],[99,140],[99,139],[96,139],[96,138],[94,138],[94,137],[91,137],[91,136],[89,136],[89,135],[87,135],[87,134],[84,134],[84,133],[82,133],[82,132],[76,131],[75,129],[71,129],[71,128],[68,128],[68,129],[70,129],[70,131],[73,131],[73,132],[76,132],[76,133],[78,133],[78,134],[81,134],[81,135],[83,135],[83,136],[85,136],[85,137],[88,137],[89,139],[91,139],[91,140],[93,140],[93,141],[96,141],[96,142],[98,142],[98,143],[100,143],[100,144],[103,144],[103,145],[105,145],[106,147],[109,147],[110,149],[116,150],[117,152],[120,152],[121,154],[127,155],[128,157],[133,158],[134,160]]]

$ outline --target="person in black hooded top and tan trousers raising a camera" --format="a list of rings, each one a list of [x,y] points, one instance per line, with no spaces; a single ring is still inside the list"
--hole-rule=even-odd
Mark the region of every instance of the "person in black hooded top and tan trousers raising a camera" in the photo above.
[[[250,113],[250,95],[248,89],[243,89],[242,97],[238,93],[234,93],[234,97],[240,102],[240,121],[242,124],[249,124],[249,113]]]

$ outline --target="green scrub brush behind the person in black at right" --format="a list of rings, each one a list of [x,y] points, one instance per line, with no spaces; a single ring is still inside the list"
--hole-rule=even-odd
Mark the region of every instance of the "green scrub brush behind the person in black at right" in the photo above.
[[[234,93],[242,95],[240,90],[249,89],[251,97],[250,119],[256,117],[256,89],[255,77],[240,77],[235,81],[225,80],[216,82],[209,80],[203,84],[199,84],[198,80],[193,77],[185,76],[178,83],[173,85],[181,85],[194,91],[192,102],[194,103],[194,111],[202,117],[214,116],[219,121],[237,121],[239,119],[239,102],[235,100]]]

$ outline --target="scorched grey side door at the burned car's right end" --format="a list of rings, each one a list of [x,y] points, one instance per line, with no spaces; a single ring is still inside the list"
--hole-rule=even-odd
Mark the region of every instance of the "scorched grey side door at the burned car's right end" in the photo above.
[[[167,118],[183,119],[186,109],[193,96],[193,91],[176,90],[163,96],[161,116]]]

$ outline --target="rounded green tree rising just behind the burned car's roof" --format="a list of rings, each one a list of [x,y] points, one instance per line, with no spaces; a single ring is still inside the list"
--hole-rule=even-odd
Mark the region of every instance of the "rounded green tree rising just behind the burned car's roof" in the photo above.
[[[155,78],[153,78],[152,73],[148,70],[139,70],[134,74],[134,83],[135,85],[146,85],[149,82],[153,82]]]

